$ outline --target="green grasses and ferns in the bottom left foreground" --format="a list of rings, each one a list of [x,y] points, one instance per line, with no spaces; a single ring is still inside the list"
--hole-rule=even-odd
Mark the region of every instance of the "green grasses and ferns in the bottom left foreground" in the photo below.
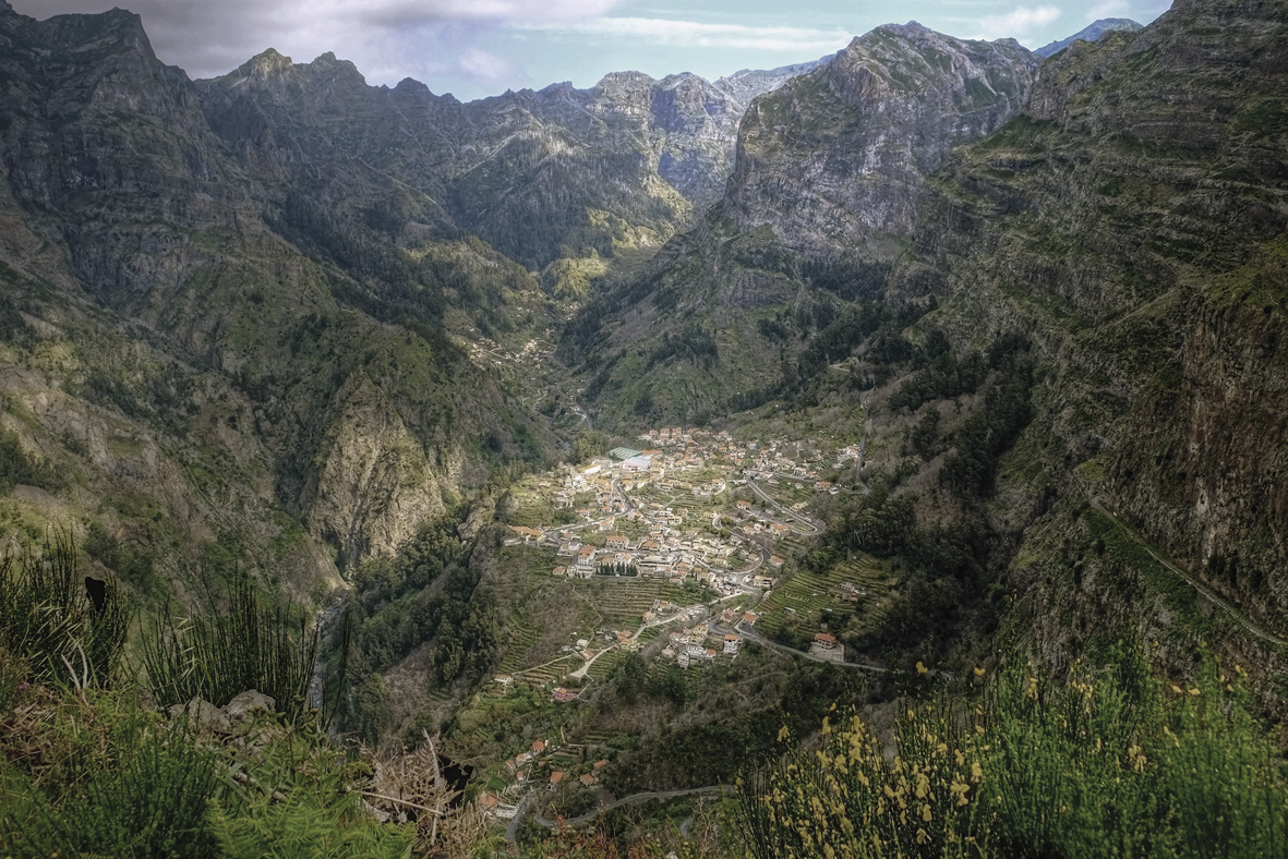
[[[287,634],[290,607],[270,610],[234,583],[228,612],[155,627],[137,671],[124,658],[121,592],[82,587],[79,573],[67,538],[0,559],[5,856],[402,858],[487,846],[478,811],[429,777],[431,748],[392,766],[326,735],[305,707],[316,640]],[[279,698],[216,725],[214,708],[249,689]],[[178,706],[166,715],[157,703]],[[385,789],[406,823],[377,823],[365,807],[381,802],[380,778],[390,782],[381,769],[398,773]]]

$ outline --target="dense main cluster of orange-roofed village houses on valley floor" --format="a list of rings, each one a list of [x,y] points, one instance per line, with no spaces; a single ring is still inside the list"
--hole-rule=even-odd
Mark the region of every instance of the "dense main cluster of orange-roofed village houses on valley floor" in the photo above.
[[[784,559],[775,541],[820,527],[805,502],[779,505],[753,483],[840,492],[818,470],[857,464],[858,449],[835,456],[792,452],[787,443],[739,443],[729,433],[667,428],[640,435],[645,449],[618,447],[589,466],[565,466],[536,488],[567,524],[510,525],[507,542],[555,549],[554,576],[641,576],[697,581],[724,596],[766,590]],[[748,497],[734,500],[737,489]],[[753,501],[755,500],[755,501]]]

